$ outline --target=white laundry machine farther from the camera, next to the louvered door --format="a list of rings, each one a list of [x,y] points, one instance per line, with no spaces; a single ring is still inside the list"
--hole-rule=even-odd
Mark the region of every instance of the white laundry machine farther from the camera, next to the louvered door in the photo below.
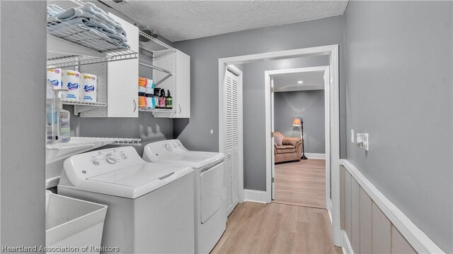
[[[187,150],[180,140],[144,147],[143,159],[192,167],[195,176],[195,253],[210,253],[226,229],[225,155]]]

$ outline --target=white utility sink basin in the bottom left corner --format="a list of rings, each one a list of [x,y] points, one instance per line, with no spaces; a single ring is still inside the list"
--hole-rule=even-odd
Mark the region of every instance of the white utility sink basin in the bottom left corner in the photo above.
[[[99,253],[106,205],[46,192],[47,253]]]

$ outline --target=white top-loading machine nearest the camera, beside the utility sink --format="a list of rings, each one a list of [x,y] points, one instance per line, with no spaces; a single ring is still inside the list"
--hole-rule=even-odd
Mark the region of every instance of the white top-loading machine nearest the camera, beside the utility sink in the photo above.
[[[193,253],[193,188],[192,168],[148,163],[134,147],[118,147],[66,159],[58,193],[108,205],[105,253]]]

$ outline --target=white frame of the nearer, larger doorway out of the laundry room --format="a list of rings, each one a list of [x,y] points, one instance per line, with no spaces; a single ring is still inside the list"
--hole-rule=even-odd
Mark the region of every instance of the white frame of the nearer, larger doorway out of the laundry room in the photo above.
[[[330,67],[330,78],[331,78],[331,89],[330,89],[330,134],[331,134],[331,192],[332,192],[332,231],[333,231],[333,243],[336,246],[341,246],[341,229],[340,229],[340,107],[339,107],[339,56],[338,56],[338,44],[321,46],[321,47],[311,47],[305,49],[292,49],[285,50],[280,52],[268,52],[261,54],[251,54],[245,56],[232,56],[223,59],[219,59],[219,151],[223,148],[224,140],[222,140],[223,135],[223,99],[224,92],[222,89],[224,81],[224,73],[226,66],[229,64],[241,64],[241,63],[251,63],[254,61],[263,61],[263,60],[278,60],[278,59],[290,59],[297,58],[302,56],[329,56],[329,67]],[[268,90],[265,91],[268,93]],[[266,110],[266,109],[265,109]],[[266,110],[268,111],[268,110]],[[265,119],[265,122],[268,123],[270,119]],[[269,133],[270,137],[270,133]],[[270,138],[268,138],[270,139]],[[267,154],[269,154],[270,147],[267,147]],[[267,158],[269,160],[269,158]],[[239,172],[240,178],[243,179],[243,172]],[[270,202],[270,168],[266,169],[266,194],[268,193],[269,202]],[[239,202],[243,201],[243,185],[239,186]],[[329,205],[329,204],[327,204]]]

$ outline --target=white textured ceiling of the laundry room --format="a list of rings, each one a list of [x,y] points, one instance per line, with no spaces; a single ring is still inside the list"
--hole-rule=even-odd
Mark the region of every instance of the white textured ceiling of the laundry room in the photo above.
[[[348,1],[102,0],[172,42],[343,15]]]

